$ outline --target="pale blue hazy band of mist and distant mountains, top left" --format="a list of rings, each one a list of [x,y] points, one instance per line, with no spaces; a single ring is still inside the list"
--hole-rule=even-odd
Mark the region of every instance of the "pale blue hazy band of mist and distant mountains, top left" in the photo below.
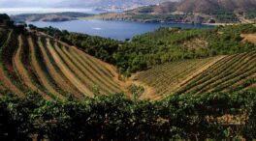
[[[0,0],[0,8],[44,7],[44,8],[138,8],[174,0]]]

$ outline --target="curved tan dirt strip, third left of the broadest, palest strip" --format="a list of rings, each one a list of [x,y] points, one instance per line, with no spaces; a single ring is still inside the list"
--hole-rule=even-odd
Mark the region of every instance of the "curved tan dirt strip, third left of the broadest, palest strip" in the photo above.
[[[21,36],[18,37],[18,48],[15,54],[15,58],[14,58],[14,64],[16,66],[16,71],[18,72],[20,78],[22,79],[22,81],[24,82],[24,84],[29,87],[32,91],[38,92],[40,95],[42,95],[45,99],[50,99],[48,97],[48,95],[46,95],[45,93],[43,93],[42,91],[40,91],[31,81],[31,78],[28,74],[28,71],[26,71],[26,69],[24,68],[24,66],[22,65],[21,62],[21,52],[23,49],[23,41]]]

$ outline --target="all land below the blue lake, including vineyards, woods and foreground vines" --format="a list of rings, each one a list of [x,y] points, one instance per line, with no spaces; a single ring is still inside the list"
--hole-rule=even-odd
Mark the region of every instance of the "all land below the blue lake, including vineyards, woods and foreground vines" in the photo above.
[[[254,26],[163,28],[119,42],[6,21],[2,140],[256,138]],[[190,42],[206,38],[201,49]]]

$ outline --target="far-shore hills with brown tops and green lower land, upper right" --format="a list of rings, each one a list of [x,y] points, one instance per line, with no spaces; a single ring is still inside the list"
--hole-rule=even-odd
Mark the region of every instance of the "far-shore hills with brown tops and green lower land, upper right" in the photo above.
[[[253,22],[254,0],[180,0],[146,6],[123,14],[101,14],[101,19],[135,20],[141,22],[230,23]]]

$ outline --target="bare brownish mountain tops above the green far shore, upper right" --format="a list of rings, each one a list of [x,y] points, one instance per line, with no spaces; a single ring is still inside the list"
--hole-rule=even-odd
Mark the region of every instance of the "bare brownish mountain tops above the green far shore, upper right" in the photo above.
[[[140,13],[148,7],[139,8],[134,12]],[[198,13],[214,14],[218,12],[249,12],[256,11],[256,0],[180,0],[178,2],[165,2],[160,5],[150,7],[152,14],[178,13]]]

